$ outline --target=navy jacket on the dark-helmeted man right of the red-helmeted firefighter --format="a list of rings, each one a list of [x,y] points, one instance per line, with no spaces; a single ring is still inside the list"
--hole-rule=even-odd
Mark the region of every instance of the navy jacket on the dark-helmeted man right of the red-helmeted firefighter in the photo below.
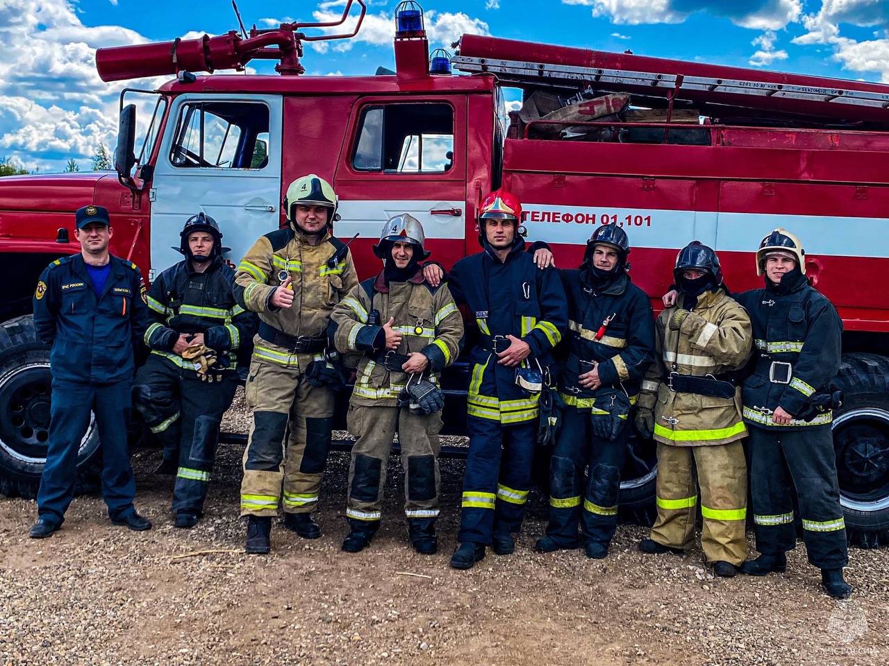
[[[577,376],[579,361],[597,361],[603,387],[623,385],[632,398],[654,360],[654,314],[645,292],[623,274],[601,292],[594,292],[581,278],[581,271],[561,270],[568,297],[568,359],[559,382],[565,404],[591,408],[594,391],[585,389]],[[606,317],[613,319],[605,334],[596,334]]]

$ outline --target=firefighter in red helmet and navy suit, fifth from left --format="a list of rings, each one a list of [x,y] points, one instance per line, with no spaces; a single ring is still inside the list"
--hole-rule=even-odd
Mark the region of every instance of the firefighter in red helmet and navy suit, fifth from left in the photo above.
[[[472,567],[486,545],[499,555],[515,549],[512,533],[521,527],[531,486],[538,400],[550,352],[567,325],[565,289],[554,268],[538,269],[525,252],[521,218],[514,194],[485,196],[478,219],[484,251],[458,261],[449,279],[480,332],[469,353],[469,457],[454,568]]]

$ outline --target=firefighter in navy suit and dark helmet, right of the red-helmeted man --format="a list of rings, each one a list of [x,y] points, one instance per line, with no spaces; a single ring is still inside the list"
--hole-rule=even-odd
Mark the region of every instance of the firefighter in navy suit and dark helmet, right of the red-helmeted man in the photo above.
[[[568,358],[559,381],[565,412],[549,462],[549,525],[535,546],[541,552],[577,548],[580,522],[584,551],[601,559],[617,527],[629,406],[654,358],[652,306],[629,279],[629,250],[620,226],[600,226],[580,269],[559,272],[568,297]]]

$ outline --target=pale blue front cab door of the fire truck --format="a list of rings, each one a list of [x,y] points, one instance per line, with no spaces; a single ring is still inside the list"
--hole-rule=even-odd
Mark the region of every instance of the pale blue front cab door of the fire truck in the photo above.
[[[182,95],[173,105],[151,184],[151,266],[180,261],[182,225],[201,210],[237,263],[278,227],[281,98]]]

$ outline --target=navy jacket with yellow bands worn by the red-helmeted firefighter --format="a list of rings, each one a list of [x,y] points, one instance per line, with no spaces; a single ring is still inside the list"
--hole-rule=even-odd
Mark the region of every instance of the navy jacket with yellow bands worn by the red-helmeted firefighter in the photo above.
[[[547,369],[567,326],[565,289],[557,270],[538,268],[524,245],[511,250],[505,262],[487,251],[462,258],[453,266],[448,286],[454,300],[469,307],[482,343],[494,336],[520,337],[531,347],[530,367],[537,369],[536,359]],[[540,395],[517,386],[516,369],[497,361],[482,344],[470,351],[469,416],[504,425],[537,418]]]

